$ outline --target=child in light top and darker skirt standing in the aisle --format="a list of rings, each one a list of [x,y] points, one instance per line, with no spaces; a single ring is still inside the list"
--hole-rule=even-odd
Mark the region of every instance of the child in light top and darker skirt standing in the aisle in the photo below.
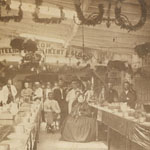
[[[44,102],[44,112],[47,122],[47,132],[58,130],[60,107],[58,102],[53,99],[53,92],[48,93],[48,99]]]

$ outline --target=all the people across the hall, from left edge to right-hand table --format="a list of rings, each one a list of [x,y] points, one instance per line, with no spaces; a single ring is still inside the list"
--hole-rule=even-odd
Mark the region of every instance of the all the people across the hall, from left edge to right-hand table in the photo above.
[[[54,85],[51,82],[45,85],[35,82],[32,88],[28,82],[24,82],[20,92],[17,92],[10,79],[6,85],[0,86],[1,105],[15,102],[16,96],[23,103],[41,101],[47,131],[53,133],[61,129],[61,139],[71,142],[89,142],[96,139],[96,118],[88,105],[93,95],[93,87],[90,85],[83,90],[83,84],[79,80],[73,80],[69,86],[65,86],[62,79]],[[109,82],[107,87],[102,87],[98,98],[101,104],[126,102],[131,108],[135,108],[136,99],[136,92],[129,82],[124,82],[120,96]]]

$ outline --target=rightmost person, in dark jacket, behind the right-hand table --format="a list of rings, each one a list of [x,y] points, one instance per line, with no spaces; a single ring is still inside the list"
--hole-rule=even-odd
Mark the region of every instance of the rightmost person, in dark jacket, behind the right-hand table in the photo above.
[[[126,102],[127,105],[131,108],[135,108],[136,105],[136,94],[135,91],[131,91],[130,89],[130,83],[129,82],[124,82],[123,84],[123,91],[120,95],[120,101],[121,102]]]

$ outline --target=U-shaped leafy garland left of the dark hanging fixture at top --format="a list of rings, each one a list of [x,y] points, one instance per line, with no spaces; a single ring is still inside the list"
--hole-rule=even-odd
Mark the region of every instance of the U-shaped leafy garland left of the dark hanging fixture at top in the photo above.
[[[82,24],[93,26],[101,24],[104,14],[104,8],[102,4],[98,5],[99,13],[92,13],[87,18],[84,17],[83,12],[81,10],[81,3],[76,3],[75,9],[77,12],[78,19],[81,21]]]

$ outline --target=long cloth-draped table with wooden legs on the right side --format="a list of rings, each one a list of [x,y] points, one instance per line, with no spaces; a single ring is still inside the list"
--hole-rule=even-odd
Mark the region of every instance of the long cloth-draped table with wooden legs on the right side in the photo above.
[[[122,117],[121,113],[114,113],[108,108],[94,104],[89,105],[98,110],[99,118],[97,119],[108,127],[108,150],[111,148],[111,129],[126,138],[126,150],[132,149],[132,142],[137,143],[144,150],[150,150],[150,122],[138,123],[137,120],[133,120],[131,117]]]

